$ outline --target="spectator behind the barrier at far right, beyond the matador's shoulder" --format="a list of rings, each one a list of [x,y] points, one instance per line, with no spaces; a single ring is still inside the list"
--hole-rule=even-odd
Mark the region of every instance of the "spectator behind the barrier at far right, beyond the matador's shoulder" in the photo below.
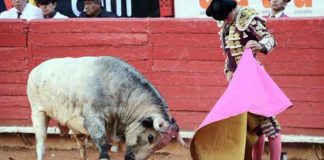
[[[271,13],[269,18],[288,17],[284,11],[290,0],[269,0],[271,4]]]

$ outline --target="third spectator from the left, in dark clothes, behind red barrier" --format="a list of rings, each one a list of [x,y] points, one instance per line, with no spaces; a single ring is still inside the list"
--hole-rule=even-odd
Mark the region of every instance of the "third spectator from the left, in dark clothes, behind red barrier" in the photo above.
[[[103,6],[101,0],[80,0],[83,1],[84,11],[81,12],[80,18],[95,18],[95,17],[117,17],[112,12],[107,12]]]

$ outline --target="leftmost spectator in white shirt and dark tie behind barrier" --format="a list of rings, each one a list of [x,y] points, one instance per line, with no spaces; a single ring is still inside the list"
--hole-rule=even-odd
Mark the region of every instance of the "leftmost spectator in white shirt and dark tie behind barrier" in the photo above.
[[[11,3],[13,8],[3,11],[0,19],[43,19],[42,10],[27,3],[27,0],[11,0]]]

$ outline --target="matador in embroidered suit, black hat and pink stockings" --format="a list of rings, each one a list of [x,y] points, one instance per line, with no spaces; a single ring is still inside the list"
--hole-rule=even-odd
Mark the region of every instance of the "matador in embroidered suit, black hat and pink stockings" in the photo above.
[[[213,0],[206,14],[224,22],[220,36],[222,48],[227,56],[224,71],[228,82],[231,81],[245,48],[251,48],[256,56],[257,52],[268,54],[276,46],[265,20],[253,8],[238,7],[235,0]],[[247,127],[250,135],[259,136],[253,145],[253,160],[262,158],[264,135],[269,140],[270,159],[280,160],[281,135],[277,119],[248,114]]]

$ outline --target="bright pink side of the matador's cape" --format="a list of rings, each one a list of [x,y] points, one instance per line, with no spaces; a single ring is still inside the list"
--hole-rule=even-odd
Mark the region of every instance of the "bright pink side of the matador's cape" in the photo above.
[[[241,113],[271,117],[291,107],[292,103],[265,69],[246,49],[231,83],[199,128]]]

